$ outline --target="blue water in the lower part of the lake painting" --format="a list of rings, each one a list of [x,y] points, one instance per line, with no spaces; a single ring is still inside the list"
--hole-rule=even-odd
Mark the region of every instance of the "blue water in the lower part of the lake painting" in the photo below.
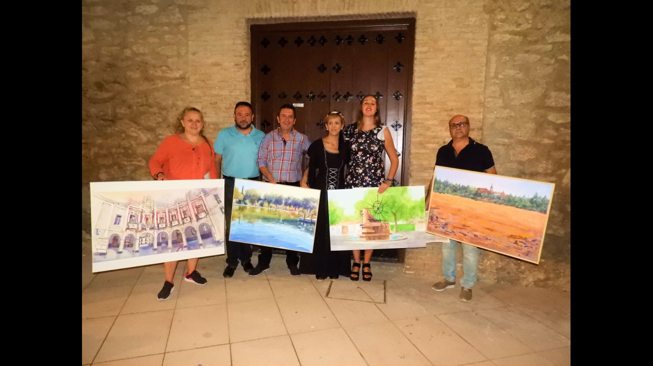
[[[260,220],[251,224],[246,220],[234,220],[231,222],[229,240],[291,251],[313,252],[313,228],[314,224],[300,228],[297,224],[280,224],[279,221]]]

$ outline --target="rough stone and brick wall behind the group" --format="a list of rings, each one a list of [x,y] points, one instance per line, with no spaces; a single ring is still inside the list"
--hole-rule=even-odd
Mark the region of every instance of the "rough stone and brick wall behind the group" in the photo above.
[[[492,149],[499,174],[556,183],[541,262],[483,251],[479,277],[571,281],[569,1],[151,0],[82,2],[82,230],[89,182],[151,179],[147,163],[185,106],[206,134],[249,100],[249,25],[404,18],[416,22],[409,185],[428,185],[454,114]],[[407,273],[439,277],[439,245],[408,249]]]

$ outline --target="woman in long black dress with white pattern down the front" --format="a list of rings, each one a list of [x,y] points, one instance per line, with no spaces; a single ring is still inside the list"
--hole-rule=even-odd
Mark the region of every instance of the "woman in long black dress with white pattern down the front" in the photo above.
[[[302,187],[319,189],[320,206],[315,224],[315,241],[312,253],[301,253],[300,273],[315,275],[318,280],[349,275],[349,251],[331,251],[328,222],[328,196],[330,189],[345,187],[347,149],[344,149],[342,129],[345,118],[340,112],[331,112],[325,118],[327,136],[319,138],[308,148],[308,169],[300,182]]]

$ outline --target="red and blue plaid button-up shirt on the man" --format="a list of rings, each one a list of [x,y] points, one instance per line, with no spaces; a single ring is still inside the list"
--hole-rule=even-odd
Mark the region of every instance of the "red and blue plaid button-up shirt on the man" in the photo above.
[[[290,139],[285,144],[278,130],[268,132],[259,148],[259,167],[268,168],[278,182],[300,181],[302,162],[310,145],[308,137],[295,129],[290,132]]]

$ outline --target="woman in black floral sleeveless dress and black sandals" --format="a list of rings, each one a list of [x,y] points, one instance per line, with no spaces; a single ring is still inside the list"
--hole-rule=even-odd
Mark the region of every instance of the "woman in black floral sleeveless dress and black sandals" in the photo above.
[[[381,194],[393,183],[396,183],[394,174],[397,172],[399,158],[394,148],[392,134],[385,126],[381,126],[379,103],[374,95],[366,95],[360,100],[357,121],[345,127],[343,136],[350,154],[345,187],[379,187],[379,194]],[[390,159],[390,170],[387,177],[385,176],[383,151],[387,152]],[[374,249],[365,249],[362,266],[363,281],[372,280],[370,259],[373,251]],[[358,281],[360,249],[353,251],[353,256],[354,262],[349,278],[351,281]]]

